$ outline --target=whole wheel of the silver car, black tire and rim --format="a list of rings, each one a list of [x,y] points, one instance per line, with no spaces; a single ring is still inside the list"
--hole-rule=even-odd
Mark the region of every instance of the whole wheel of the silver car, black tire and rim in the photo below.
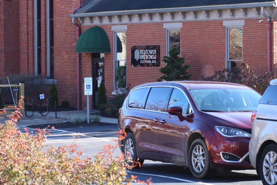
[[[277,184],[277,144],[268,145],[262,153],[259,164],[260,177],[264,185]],[[271,179],[273,177],[273,179]]]

